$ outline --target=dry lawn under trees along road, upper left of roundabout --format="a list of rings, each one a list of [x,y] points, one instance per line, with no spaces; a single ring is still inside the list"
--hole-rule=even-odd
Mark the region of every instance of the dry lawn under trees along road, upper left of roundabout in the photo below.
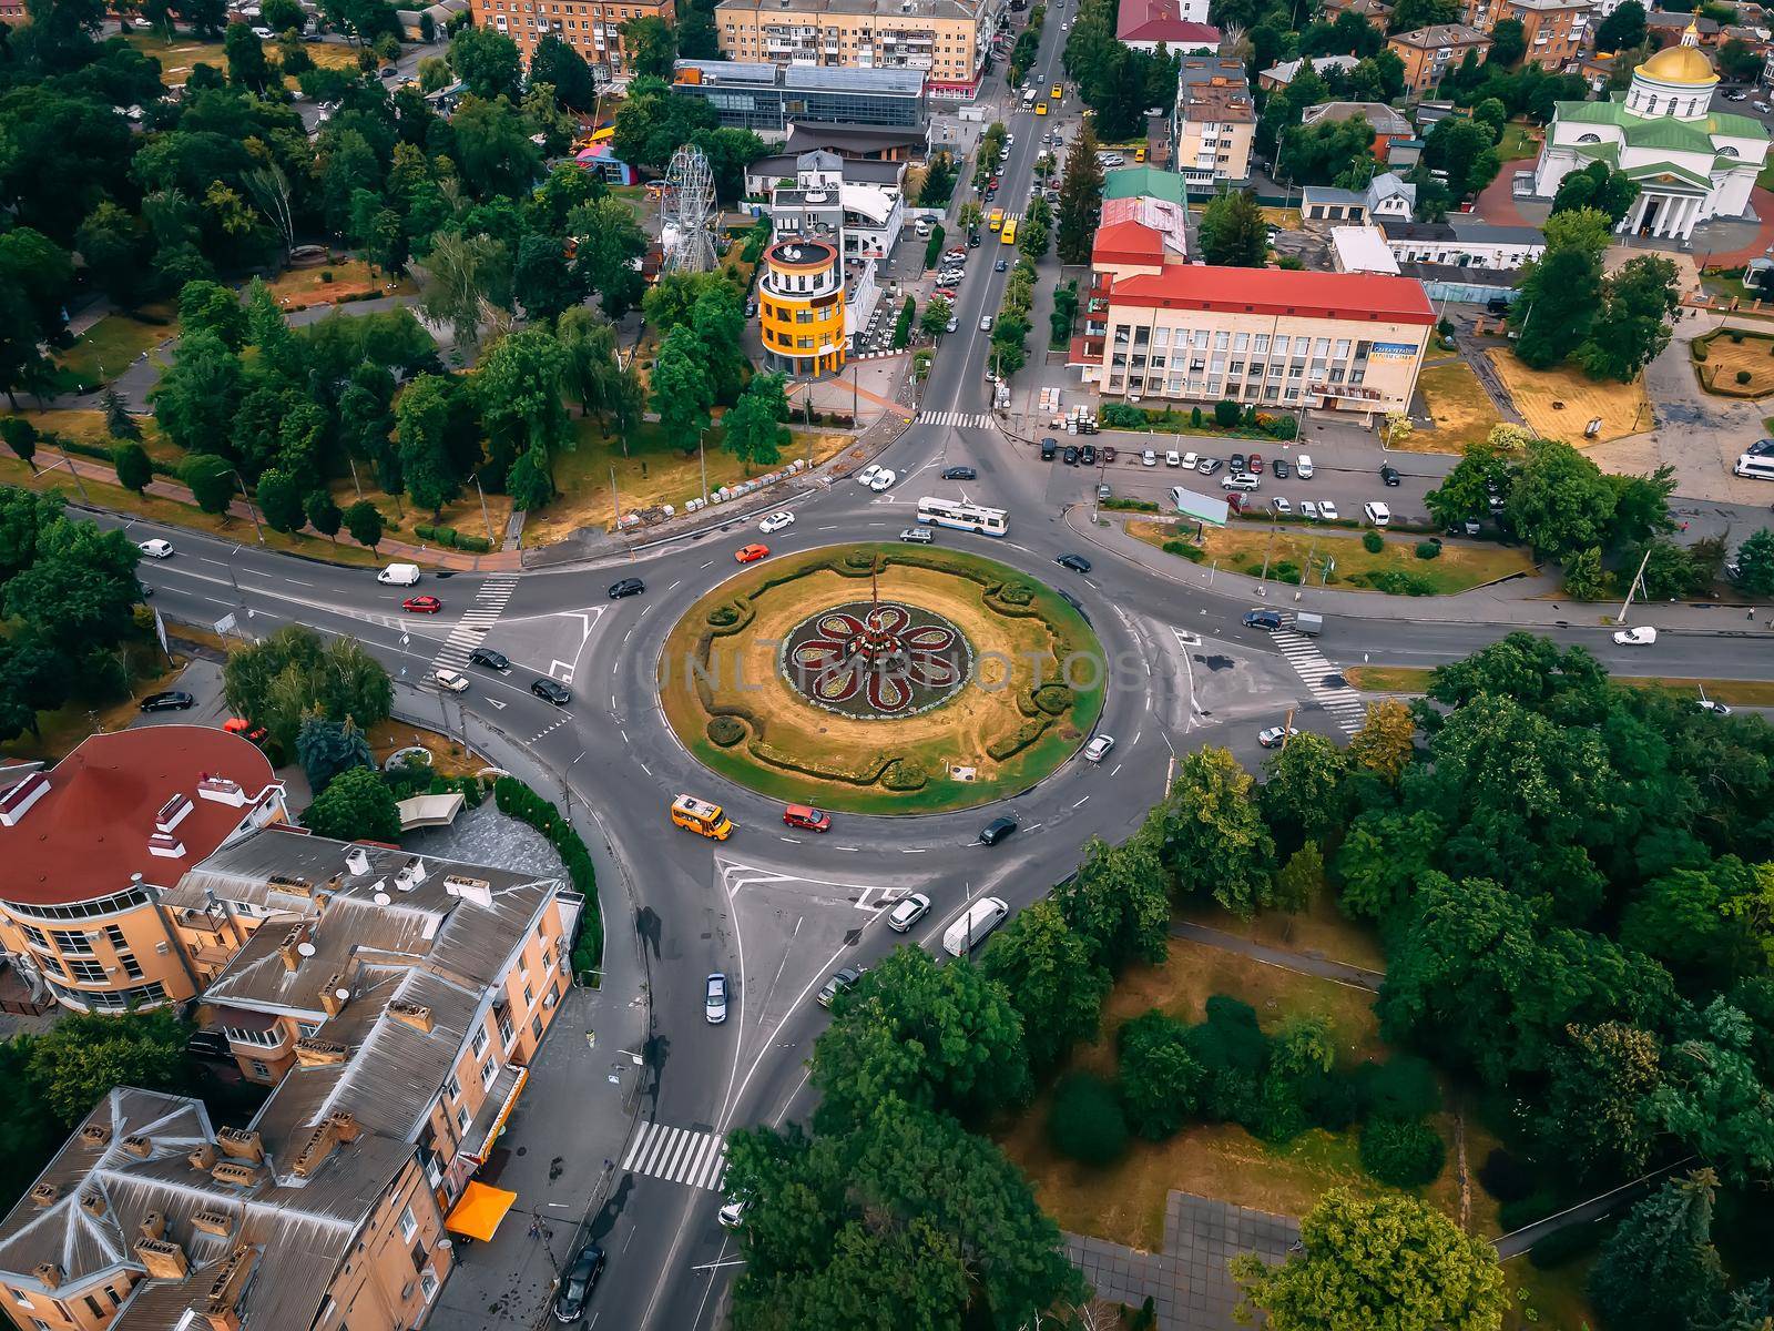
[[[616,469],[616,488],[623,513],[672,504],[683,511],[688,499],[703,495],[703,470],[695,453],[683,454],[671,447],[653,421],[642,421],[630,437],[628,451],[605,433],[596,417],[577,417],[573,429],[578,444],[555,458],[555,490],[561,497],[548,508],[532,513],[523,525],[525,545],[559,541],[580,527],[616,525],[616,504],[610,495],[610,469]],[[852,444],[850,435],[793,431],[793,442],[782,453],[782,461],[805,458],[812,445],[814,463],[841,453]],[[708,490],[745,479],[745,467],[720,447],[720,426],[713,426],[704,440],[708,454]],[[768,467],[759,470],[772,470]],[[757,472],[754,472],[756,476]],[[491,502],[491,497],[488,497]]]

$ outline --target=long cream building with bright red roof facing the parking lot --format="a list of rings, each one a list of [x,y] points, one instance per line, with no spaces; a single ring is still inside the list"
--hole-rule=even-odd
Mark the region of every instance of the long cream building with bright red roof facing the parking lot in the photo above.
[[[1096,277],[1070,364],[1107,399],[1229,398],[1371,422],[1409,406],[1433,327],[1412,279],[1173,266]]]

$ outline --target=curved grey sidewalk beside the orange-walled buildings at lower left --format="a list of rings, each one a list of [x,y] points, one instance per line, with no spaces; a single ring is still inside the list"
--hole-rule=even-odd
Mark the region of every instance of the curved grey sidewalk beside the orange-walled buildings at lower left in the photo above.
[[[397,715],[435,726],[417,690],[401,689]],[[403,703],[406,705],[403,708]],[[412,717],[403,717],[412,719]],[[491,722],[465,713],[468,745],[557,804],[561,779]],[[436,1331],[529,1331],[548,1317],[562,1265],[600,1226],[610,1203],[639,1106],[639,1051],[651,1035],[646,958],[635,942],[626,877],[584,800],[569,800],[598,871],[603,916],[603,983],[573,987],[530,1067],[498,1150],[481,1182],[514,1191],[516,1205],[486,1244],[458,1244],[456,1269],[438,1297]],[[589,1226],[589,1232],[587,1232]]]

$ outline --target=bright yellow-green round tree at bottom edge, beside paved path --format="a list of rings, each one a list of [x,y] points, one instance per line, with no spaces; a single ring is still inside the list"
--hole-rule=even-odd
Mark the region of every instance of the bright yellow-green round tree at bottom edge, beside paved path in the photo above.
[[[1497,1331],[1508,1306],[1490,1242],[1400,1194],[1332,1189],[1300,1221],[1300,1251],[1274,1267],[1244,1253],[1231,1272],[1272,1331]]]

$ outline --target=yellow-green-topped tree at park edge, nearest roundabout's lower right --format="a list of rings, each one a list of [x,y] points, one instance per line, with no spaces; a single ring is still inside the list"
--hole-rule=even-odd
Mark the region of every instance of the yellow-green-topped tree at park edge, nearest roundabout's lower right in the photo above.
[[[1178,896],[1212,896],[1245,919],[1268,903],[1276,845],[1254,784],[1228,749],[1201,749],[1178,765],[1155,809],[1158,855]]]

